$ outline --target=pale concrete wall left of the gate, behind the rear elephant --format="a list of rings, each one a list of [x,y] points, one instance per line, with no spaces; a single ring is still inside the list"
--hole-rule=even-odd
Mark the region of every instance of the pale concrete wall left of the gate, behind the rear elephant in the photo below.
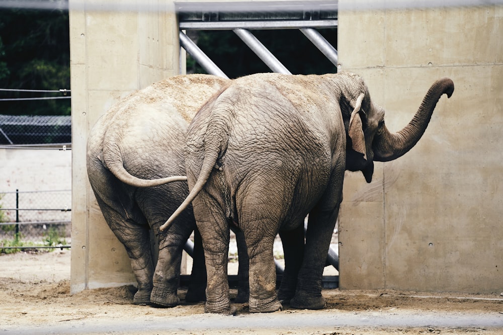
[[[106,225],[86,174],[87,135],[131,91],[179,74],[173,3],[70,0],[72,90],[71,292],[136,283],[124,247]],[[148,8],[134,12],[114,6]],[[100,9],[103,7],[103,9]],[[167,11],[165,10],[167,7]],[[110,10],[112,9],[112,10]]]

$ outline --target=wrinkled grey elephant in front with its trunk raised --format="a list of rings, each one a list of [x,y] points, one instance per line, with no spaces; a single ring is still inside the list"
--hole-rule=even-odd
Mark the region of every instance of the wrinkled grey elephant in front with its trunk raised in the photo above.
[[[374,161],[408,152],[423,136],[440,97],[454,83],[429,88],[412,120],[391,133],[384,108],[363,78],[258,73],[234,79],[190,124],[185,166],[190,189],[160,227],[192,203],[203,240],[205,311],[234,314],[225,280],[229,227],[244,234],[249,257],[249,311],[321,309],[321,279],[342,202],[345,170],[372,181]],[[304,217],[308,216],[304,241]],[[280,234],[283,280],[276,291],[273,242]]]

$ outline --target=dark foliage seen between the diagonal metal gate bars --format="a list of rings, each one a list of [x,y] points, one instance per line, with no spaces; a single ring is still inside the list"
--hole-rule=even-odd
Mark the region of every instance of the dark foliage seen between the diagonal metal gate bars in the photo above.
[[[318,32],[337,48],[336,29],[319,29]],[[297,29],[254,30],[251,33],[293,74],[337,72],[337,67]],[[189,36],[229,78],[272,72],[232,31],[197,31],[190,32]],[[187,71],[205,73],[190,57]]]

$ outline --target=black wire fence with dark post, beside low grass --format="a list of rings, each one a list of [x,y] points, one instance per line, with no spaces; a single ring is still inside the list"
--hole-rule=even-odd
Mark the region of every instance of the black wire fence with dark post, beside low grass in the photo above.
[[[0,252],[69,248],[71,190],[0,192]]]

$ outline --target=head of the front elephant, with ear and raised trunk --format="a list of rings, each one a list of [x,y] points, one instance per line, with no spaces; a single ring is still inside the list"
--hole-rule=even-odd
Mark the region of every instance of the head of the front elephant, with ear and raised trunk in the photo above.
[[[390,133],[384,124],[384,108],[370,99],[363,79],[352,73],[344,75],[351,77],[340,102],[347,138],[346,169],[362,171],[368,183],[372,181],[373,162],[391,161],[412,149],[425,133],[442,94],[451,97],[454,91],[451,79],[435,81],[408,125]]]

